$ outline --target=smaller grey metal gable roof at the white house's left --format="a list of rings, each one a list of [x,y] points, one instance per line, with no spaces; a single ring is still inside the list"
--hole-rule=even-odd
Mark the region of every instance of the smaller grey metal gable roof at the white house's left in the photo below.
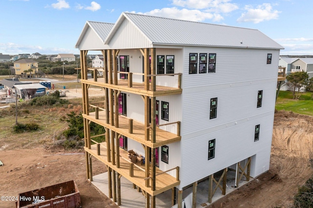
[[[105,41],[110,31],[112,30],[114,24],[98,21],[86,21],[83,31],[81,32],[79,39],[75,45],[75,48],[78,48],[80,42],[83,40],[85,33],[90,27],[102,41]]]

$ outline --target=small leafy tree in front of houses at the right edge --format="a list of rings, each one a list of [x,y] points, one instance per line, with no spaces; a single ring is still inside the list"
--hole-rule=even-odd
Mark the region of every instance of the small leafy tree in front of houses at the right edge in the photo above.
[[[287,75],[286,79],[288,81],[286,85],[292,90],[293,99],[299,99],[305,90],[304,87],[306,87],[309,82],[308,73],[304,71],[295,72]]]

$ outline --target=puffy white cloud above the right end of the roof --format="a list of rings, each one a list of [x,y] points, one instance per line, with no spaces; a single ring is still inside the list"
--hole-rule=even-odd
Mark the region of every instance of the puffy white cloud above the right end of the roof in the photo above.
[[[246,13],[243,13],[240,18],[237,19],[238,22],[249,22],[259,23],[261,21],[268,21],[272,19],[278,19],[278,14],[280,11],[273,10],[269,3],[263,3],[253,8],[251,5],[246,5]]]

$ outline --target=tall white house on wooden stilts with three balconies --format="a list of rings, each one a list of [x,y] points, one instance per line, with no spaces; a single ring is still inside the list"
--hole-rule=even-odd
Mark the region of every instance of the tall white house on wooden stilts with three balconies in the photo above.
[[[104,163],[109,197],[118,205],[126,197],[121,176],[142,190],[146,207],[172,190],[181,208],[184,187],[192,186],[196,198],[198,183],[215,185],[223,173],[225,194],[243,175],[249,180],[268,171],[283,47],[262,32],[122,13],[114,25],[87,21],[75,47],[85,62],[87,177],[92,181],[91,157]],[[86,77],[87,52],[94,50],[104,55],[104,81]],[[104,108],[89,103],[90,85],[104,88]],[[91,145],[90,122],[104,126],[106,142]],[[236,183],[227,182],[232,170]],[[212,186],[205,190],[211,203]]]

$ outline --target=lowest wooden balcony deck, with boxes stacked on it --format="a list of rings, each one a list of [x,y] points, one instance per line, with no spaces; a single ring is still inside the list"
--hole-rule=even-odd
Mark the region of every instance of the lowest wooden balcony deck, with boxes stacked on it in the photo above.
[[[167,171],[161,171],[156,167],[156,190],[153,191],[151,186],[146,187],[146,180],[150,181],[151,177],[145,176],[145,165],[139,165],[138,163],[134,164],[128,160],[128,152],[122,148],[119,149],[119,167],[112,165],[111,162],[108,162],[107,156],[107,144],[98,143],[91,145],[91,148],[84,147],[87,152],[92,156],[103,162],[105,165],[111,167],[113,170],[121,174],[123,177],[131,181],[137,187],[140,187],[142,190],[148,192],[151,196],[156,196],[163,191],[171,189],[180,184],[179,181],[179,167],[173,168],[171,170],[176,171],[177,176],[173,177],[167,174]],[[147,161],[146,161],[147,162]],[[150,167],[151,168],[151,167]],[[169,171],[169,170],[168,170]],[[150,170],[151,172],[151,170]]]

